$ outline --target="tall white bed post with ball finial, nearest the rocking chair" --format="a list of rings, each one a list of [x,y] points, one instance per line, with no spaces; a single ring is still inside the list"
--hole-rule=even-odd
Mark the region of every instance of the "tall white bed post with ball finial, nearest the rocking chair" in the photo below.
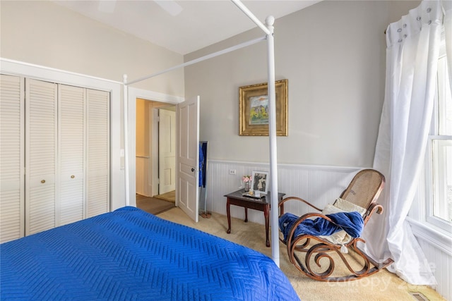
[[[275,96],[275,42],[273,39],[273,23],[275,18],[268,16],[268,137],[270,142],[270,221],[271,221],[271,256],[280,266],[279,227],[278,227],[278,161],[276,146],[276,96]]]

